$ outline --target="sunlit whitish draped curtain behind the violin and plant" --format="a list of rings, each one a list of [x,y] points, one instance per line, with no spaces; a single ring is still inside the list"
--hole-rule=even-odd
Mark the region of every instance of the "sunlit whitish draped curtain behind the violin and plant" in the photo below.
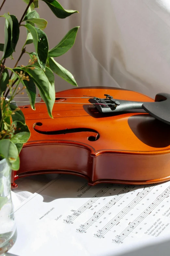
[[[170,93],[170,0],[59,0],[65,9],[79,11],[66,19],[56,18],[46,3],[39,2],[40,18],[48,21],[50,48],[69,29],[80,26],[73,48],[56,59],[79,87],[114,86],[152,97]],[[7,0],[1,14],[9,11],[19,19],[25,7],[22,0]],[[3,26],[1,21],[1,43]],[[20,37],[15,59],[25,36],[24,32]],[[33,46],[27,46],[29,50]],[[25,55],[19,64],[27,60]],[[56,91],[73,88],[55,77]]]

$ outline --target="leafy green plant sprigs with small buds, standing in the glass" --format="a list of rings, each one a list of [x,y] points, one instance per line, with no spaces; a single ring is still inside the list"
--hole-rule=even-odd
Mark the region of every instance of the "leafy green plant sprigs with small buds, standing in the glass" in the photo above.
[[[52,118],[52,109],[55,102],[54,73],[68,83],[77,86],[73,75],[62,67],[54,58],[65,54],[75,43],[78,26],[72,28],[53,48],[49,43],[44,29],[47,21],[39,17],[35,8],[39,8],[43,1],[52,13],[64,19],[78,11],[65,10],[57,0],[21,0],[26,3],[26,9],[19,21],[15,15],[4,13],[0,19],[5,19],[5,40],[0,43],[2,57],[0,60],[0,159],[6,158],[13,170],[20,166],[19,153],[24,143],[30,138],[30,131],[25,118],[15,104],[15,96],[23,94],[23,89],[29,97],[30,105],[35,110],[36,90],[47,106]],[[0,8],[1,9],[1,8]],[[5,66],[5,61],[13,61],[13,52],[20,38],[20,28],[24,26],[27,32],[21,55],[14,68]],[[35,52],[26,51],[28,44],[34,44]],[[23,54],[28,54],[28,64],[18,66]],[[19,87],[20,86],[20,87]]]

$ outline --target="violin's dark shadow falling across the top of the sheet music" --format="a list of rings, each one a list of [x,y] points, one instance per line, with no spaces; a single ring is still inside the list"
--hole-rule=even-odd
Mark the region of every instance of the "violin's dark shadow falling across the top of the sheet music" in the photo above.
[[[94,186],[88,185],[86,179],[78,176],[61,174],[57,178],[57,182],[50,185],[49,190],[46,188],[44,191],[41,189],[39,194],[43,197],[43,202],[51,202],[60,198],[99,198],[107,196],[122,197],[125,194],[131,194],[139,188],[149,187],[148,185],[125,185],[114,183],[101,183]],[[56,184],[55,184],[56,183]],[[151,184],[152,185],[152,184]],[[87,193],[88,192],[88,193]],[[38,192],[37,192],[38,193]]]

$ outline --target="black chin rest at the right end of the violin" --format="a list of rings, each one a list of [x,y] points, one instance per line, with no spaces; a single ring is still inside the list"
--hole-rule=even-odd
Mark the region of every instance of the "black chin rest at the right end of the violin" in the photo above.
[[[156,94],[155,102],[144,102],[142,108],[153,117],[170,124],[170,94]]]

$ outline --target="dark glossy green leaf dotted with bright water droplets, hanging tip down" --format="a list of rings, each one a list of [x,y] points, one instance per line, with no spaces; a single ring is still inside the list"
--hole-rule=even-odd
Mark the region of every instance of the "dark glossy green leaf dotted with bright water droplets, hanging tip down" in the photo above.
[[[49,51],[47,36],[41,29],[33,27],[31,24],[25,24],[24,26],[29,30],[33,37],[38,63],[40,67],[45,71]]]

